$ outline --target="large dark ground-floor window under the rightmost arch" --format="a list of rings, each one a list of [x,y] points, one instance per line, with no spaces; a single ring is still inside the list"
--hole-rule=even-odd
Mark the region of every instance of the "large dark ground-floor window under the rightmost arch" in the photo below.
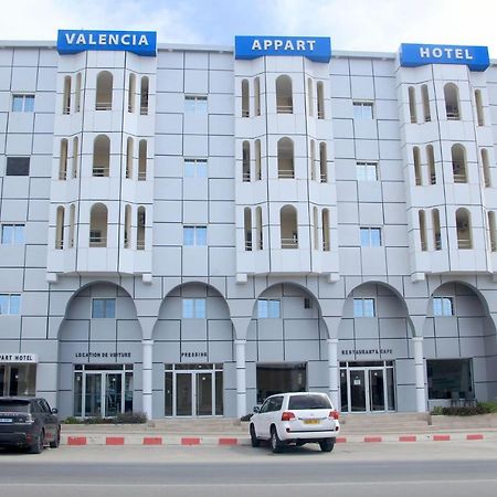
[[[426,360],[429,399],[474,400],[470,359]]]

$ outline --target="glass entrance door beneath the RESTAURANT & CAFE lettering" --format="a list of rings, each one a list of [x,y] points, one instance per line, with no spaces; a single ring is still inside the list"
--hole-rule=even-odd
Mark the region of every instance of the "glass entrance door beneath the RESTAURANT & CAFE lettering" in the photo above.
[[[340,363],[342,412],[395,410],[393,361]]]

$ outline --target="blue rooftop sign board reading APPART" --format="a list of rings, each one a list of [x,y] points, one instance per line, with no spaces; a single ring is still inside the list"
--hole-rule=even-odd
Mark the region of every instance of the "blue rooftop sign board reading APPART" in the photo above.
[[[304,56],[314,62],[329,62],[331,40],[324,36],[235,36],[235,59],[265,55]]]

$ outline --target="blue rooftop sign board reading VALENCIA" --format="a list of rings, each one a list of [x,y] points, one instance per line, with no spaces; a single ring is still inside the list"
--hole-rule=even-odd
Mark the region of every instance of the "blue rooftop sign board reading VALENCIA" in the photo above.
[[[125,51],[155,57],[157,33],[155,31],[59,30],[57,52],[61,55],[71,55],[85,50]]]

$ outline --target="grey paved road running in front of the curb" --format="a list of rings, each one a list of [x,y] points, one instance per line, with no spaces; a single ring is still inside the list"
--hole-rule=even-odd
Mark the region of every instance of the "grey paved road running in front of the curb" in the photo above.
[[[0,453],[0,497],[330,495],[495,497],[497,443],[305,446],[61,447]]]

